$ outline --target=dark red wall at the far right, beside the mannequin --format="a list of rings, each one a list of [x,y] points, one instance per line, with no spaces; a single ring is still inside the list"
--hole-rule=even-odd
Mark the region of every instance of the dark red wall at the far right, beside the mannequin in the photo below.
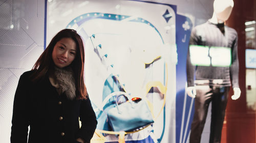
[[[222,143],[255,143],[255,112],[249,111],[246,107],[246,68],[245,68],[245,22],[256,20],[256,1],[254,0],[233,0],[234,8],[226,25],[238,32],[238,53],[239,53],[239,84],[241,97],[232,100],[232,90],[226,109],[226,118],[222,131]],[[255,95],[256,96],[256,95]]]

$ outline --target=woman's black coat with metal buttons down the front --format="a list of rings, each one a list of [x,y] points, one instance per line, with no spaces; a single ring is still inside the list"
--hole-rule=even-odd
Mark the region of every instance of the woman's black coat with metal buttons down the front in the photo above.
[[[65,94],[58,95],[49,76],[32,83],[29,79],[32,73],[25,72],[18,82],[13,104],[11,143],[27,142],[28,126],[29,143],[73,143],[79,137],[90,142],[97,120],[89,98],[68,100]]]

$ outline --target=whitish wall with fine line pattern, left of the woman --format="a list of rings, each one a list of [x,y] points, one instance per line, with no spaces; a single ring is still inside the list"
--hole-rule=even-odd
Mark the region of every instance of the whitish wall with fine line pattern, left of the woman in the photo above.
[[[0,1],[0,142],[10,142],[19,76],[44,50],[45,1]]]

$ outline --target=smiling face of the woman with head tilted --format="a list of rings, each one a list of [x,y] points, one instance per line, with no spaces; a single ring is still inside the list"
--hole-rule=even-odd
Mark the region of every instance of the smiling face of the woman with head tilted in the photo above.
[[[55,66],[64,68],[69,66],[76,56],[76,43],[71,38],[59,40],[52,51],[52,60]]]

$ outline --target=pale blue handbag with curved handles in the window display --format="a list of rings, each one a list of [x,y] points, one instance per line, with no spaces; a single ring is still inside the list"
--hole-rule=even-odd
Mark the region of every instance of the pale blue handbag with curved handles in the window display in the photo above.
[[[154,123],[151,111],[143,99],[132,101],[130,95],[124,92],[116,92],[115,95],[116,106],[107,113],[113,131],[133,131]],[[121,95],[128,101],[118,104],[118,97]]]

